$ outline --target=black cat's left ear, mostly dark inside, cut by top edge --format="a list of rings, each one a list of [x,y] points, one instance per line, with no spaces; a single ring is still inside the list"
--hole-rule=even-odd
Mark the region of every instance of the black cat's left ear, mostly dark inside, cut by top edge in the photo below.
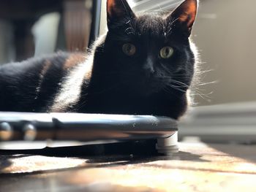
[[[108,28],[121,21],[129,21],[135,18],[134,12],[126,0],[108,0],[107,1]]]

